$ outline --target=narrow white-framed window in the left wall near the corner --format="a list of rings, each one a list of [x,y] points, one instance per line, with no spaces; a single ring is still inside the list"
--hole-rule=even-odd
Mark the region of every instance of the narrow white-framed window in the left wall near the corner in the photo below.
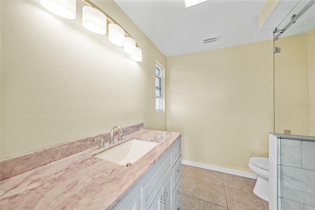
[[[156,111],[163,111],[163,67],[156,64]]]

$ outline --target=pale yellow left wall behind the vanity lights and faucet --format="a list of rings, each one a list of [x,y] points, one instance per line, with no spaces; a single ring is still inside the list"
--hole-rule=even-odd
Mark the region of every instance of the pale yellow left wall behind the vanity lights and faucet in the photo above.
[[[166,58],[114,1],[95,3],[142,48],[122,47],[67,20],[39,1],[1,1],[1,158],[144,122],[166,130],[155,112],[155,63]]]

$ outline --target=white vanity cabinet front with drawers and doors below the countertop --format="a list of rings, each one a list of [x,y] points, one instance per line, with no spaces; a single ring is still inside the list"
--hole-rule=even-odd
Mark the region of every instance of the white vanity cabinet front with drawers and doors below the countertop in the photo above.
[[[182,190],[181,158],[181,139],[178,139],[114,209],[177,210]]]

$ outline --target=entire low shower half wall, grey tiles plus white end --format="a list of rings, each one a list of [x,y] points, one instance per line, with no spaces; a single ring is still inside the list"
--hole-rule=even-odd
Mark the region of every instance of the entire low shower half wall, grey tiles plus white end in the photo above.
[[[269,134],[269,209],[315,209],[315,137]]]

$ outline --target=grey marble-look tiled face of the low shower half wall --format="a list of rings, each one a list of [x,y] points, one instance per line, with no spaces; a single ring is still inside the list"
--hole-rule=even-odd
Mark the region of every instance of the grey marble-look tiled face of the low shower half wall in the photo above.
[[[280,139],[279,210],[315,210],[315,141]]]

